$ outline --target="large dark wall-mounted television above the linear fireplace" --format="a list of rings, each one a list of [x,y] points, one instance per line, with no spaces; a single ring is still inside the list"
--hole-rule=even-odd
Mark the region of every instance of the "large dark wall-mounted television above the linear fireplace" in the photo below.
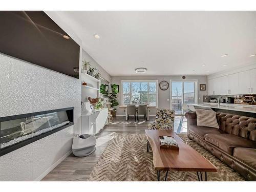
[[[78,78],[79,45],[45,12],[0,11],[0,26],[0,52]]]

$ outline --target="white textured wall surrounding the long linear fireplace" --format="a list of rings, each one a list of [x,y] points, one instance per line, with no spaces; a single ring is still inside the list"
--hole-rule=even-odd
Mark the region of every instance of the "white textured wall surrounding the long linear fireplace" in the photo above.
[[[40,180],[80,132],[79,79],[0,54],[0,117],[75,107],[75,124],[0,157],[0,181]]]

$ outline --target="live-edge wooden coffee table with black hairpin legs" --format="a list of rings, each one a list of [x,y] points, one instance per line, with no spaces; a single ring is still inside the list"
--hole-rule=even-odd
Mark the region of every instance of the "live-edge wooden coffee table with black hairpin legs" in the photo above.
[[[153,164],[157,171],[157,180],[160,181],[160,171],[166,171],[165,181],[168,171],[197,172],[198,180],[203,181],[202,172],[217,172],[217,167],[199,154],[194,148],[187,145],[183,140],[170,130],[145,130],[147,137],[147,152],[151,146],[153,151]],[[175,138],[179,145],[179,151],[160,148],[159,136],[166,135]]]

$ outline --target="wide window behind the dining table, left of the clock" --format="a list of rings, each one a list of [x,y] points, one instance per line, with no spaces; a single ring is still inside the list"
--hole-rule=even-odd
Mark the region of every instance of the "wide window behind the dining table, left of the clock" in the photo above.
[[[158,106],[157,80],[122,80],[122,104]]]

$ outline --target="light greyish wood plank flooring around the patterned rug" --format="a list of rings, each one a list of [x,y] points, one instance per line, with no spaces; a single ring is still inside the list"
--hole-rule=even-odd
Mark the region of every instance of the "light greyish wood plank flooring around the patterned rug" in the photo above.
[[[134,117],[130,117],[129,121],[125,121],[124,117],[116,117],[104,129],[96,134],[96,150],[87,157],[75,157],[73,154],[63,160],[56,166],[42,181],[87,181],[96,162],[108,145],[111,136],[117,132],[124,133],[144,133],[147,124],[154,121],[155,117],[150,117],[145,121],[143,117],[139,121],[135,121]],[[186,132],[186,119],[181,122],[180,117],[175,117],[174,131],[176,133]]]

